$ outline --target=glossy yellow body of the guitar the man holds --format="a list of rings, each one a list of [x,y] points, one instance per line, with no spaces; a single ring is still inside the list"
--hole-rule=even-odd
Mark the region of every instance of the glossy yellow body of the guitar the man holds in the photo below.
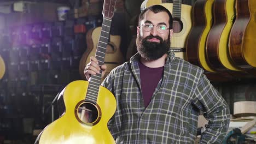
[[[114,115],[117,104],[114,95],[108,89],[100,86],[97,105],[101,110],[101,118],[97,124],[92,127],[79,122],[76,117],[76,107],[84,100],[88,83],[82,80],[73,81],[65,87],[63,100],[66,111],[62,117],[45,127],[40,136],[40,144],[115,143],[107,123]]]

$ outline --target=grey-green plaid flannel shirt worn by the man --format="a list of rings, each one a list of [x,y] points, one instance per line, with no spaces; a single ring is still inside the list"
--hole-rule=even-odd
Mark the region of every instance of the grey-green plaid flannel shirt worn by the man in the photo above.
[[[117,100],[117,111],[108,123],[117,143],[194,143],[200,110],[209,121],[200,143],[222,142],[229,107],[201,68],[170,52],[164,76],[144,107],[138,61],[136,54],[102,82]]]

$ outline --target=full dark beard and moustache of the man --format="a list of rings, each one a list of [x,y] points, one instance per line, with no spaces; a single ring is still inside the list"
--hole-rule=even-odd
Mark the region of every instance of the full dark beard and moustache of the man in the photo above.
[[[149,39],[156,38],[160,40],[160,43],[148,41]],[[162,57],[170,49],[170,33],[168,34],[168,39],[163,40],[158,35],[149,35],[148,37],[142,39],[141,35],[136,38],[136,45],[139,55],[143,57],[146,61],[154,61]]]

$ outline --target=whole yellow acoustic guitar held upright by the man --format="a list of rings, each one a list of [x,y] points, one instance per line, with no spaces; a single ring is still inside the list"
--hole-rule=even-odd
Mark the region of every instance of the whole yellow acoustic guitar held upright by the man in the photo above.
[[[104,63],[116,0],[104,0],[103,23],[95,57]],[[63,93],[65,113],[39,135],[39,143],[115,143],[107,123],[117,107],[114,95],[100,86],[101,75],[73,81]]]

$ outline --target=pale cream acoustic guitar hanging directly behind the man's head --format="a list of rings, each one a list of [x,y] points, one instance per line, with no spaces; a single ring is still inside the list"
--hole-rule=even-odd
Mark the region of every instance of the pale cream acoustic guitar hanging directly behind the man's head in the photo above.
[[[187,37],[191,29],[191,5],[182,4],[181,0],[145,0],[141,4],[141,9],[160,4],[167,8],[173,16],[173,35],[170,49],[175,52],[176,57],[187,60],[186,48]]]

